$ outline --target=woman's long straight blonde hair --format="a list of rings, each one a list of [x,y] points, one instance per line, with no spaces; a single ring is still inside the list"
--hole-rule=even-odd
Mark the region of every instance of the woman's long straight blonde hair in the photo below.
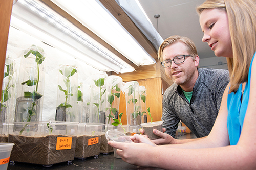
[[[228,16],[233,58],[227,58],[230,90],[236,92],[239,84],[248,81],[248,72],[256,52],[255,0],[206,0],[197,7],[199,15],[205,9],[225,10]]]

